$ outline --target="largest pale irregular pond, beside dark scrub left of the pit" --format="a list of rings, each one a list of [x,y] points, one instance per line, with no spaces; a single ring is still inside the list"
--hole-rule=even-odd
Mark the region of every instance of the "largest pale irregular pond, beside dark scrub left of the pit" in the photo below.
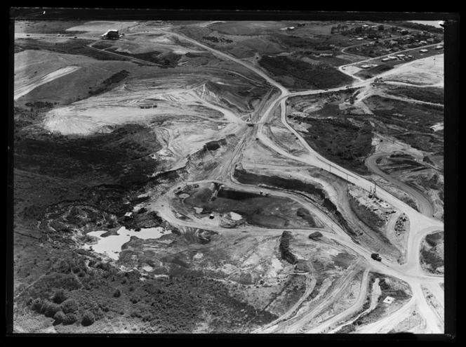
[[[93,251],[105,254],[114,260],[119,259],[121,252],[121,246],[131,239],[131,236],[138,237],[142,240],[147,239],[158,239],[166,233],[171,233],[170,230],[165,230],[164,228],[143,228],[140,231],[127,230],[126,228],[120,228],[117,233],[118,235],[110,235],[107,237],[100,237],[103,233],[106,233],[105,230],[98,230],[88,233],[87,235],[98,237],[97,244],[87,245],[86,248],[93,248]],[[165,234],[164,234],[165,233]]]

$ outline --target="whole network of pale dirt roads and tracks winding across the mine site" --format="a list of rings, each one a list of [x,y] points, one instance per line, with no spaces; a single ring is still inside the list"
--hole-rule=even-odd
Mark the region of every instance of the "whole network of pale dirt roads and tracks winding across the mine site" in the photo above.
[[[206,49],[207,51],[213,53],[213,55],[217,56],[218,58],[221,58],[223,60],[230,60],[235,63],[238,63],[244,67],[246,67],[248,70],[251,70],[255,72],[255,74],[258,74],[258,76],[262,77],[269,83],[270,85],[274,86],[277,88],[280,92],[279,96],[274,96],[272,98],[272,93],[268,93],[267,97],[264,100],[264,103],[261,104],[260,109],[256,112],[256,115],[254,118],[257,117],[257,123],[254,127],[247,127],[244,126],[244,136],[242,140],[239,142],[237,145],[237,148],[235,148],[234,152],[232,155],[229,155],[228,157],[225,157],[224,162],[220,164],[220,169],[218,171],[215,171],[213,173],[212,178],[214,179],[220,179],[222,180],[222,183],[227,183],[227,185],[231,186],[232,188],[237,188],[245,191],[251,191],[251,192],[257,192],[258,188],[250,186],[250,185],[242,185],[237,182],[235,182],[232,178],[232,172],[234,170],[234,164],[238,161],[238,158],[241,157],[241,150],[245,148],[248,143],[254,140],[254,138],[258,138],[260,142],[264,145],[266,145],[268,148],[271,150],[274,150],[274,152],[278,152],[281,155],[284,155],[288,159],[293,159],[295,161],[304,163],[309,166],[314,166],[314,167],[319,167],[321,169],[325,169],[326,171],[331,171],[332,174],[335,174],[337,176],[340,176],[340,178],[343,178],[344,180],[347,180],[350,183],[353,183],[355,185],[358,185],[359,187],[365,189],[365,190],[370,190],[370,188],[373,186],[373,183],[371,181],[367,181],[365,178],[354,174],[351,171],[348,171],[347,169],[344,169],[337,164],[334,164],[333,162],[330,162],[328,159],[325,159],[321,155],[319,155],[317,152],[315,152],[310,146],[306,143],[304,138],[302,138],[297,131],[295,131],[287,122],[286,122],[286,99],[291,96],[305,96],[305,95],[312,95],[312,94],[318,94],[318,93],[326,93],[326,92],[331,92],[331,91],[340,91],[340,90],[345,90],[345,87],[338,87],[338,88],[333,88],[333,89],[328,89],[327,91],[324,90],[309,90],[309,91],[300,91],[296,93],[291,93],[288,91],[284,86],[281,86],[277,81],[274,81],[269,75],[261,70],[260,68],[251,65],[245,60],[241,60],[238,58],[234,58],[231,55],[227,53],[223,53],[221,51],[217,51],[214,48],[211,48],[209,46],[206,46],[204,44],[201,44],[194,39],[191,39],[189,37],[185,37],[182,34],[175,33],[173,31],[169,31],[168,28],[164,28],[164,30],[161,29],[153,29],[151,30],[153,32],[164,32],[171,34],[175,37],[178,37],[180,39],[183,39],[185,41],[188,41],[191,44],[194,44],[196,46],[199,46],[201,48]],[[107,52],[108,53],[108,52]],[[379,59],[382,57],[378,58],[373,58],[373,59]],[[373,59],[367,59],[364,61],[369,61]],[[352,64],[347,64],[347,65],[342,65],[339,67],[339,70],[345,74],[348,74],[349,76],[353,77],[357,81],[352,84],[352,87],[360,87],[360,86],[368,86],[372,83],[373,79],[367,79],[365,81],[362,81],[361,79],[354,77],[352,74],[349,72],[346,72],[344,67],[349,66],[349,65],[355,65],[359,64],[358,63],[352,63]],[[67,72],[67,70],[65,70]],[[69,73],[69,72],[67,72]],[[55,74],[56,76],[56,74]],[[53,77],[53,76],[52,76]],[[51,78],[51,77],[49,77]],[[56,78],[56,77],[55,77]],[[46,82],[44,82],[46,83]],[[39,84],[37,84],[39,85]],[[18,93],[22,93],[22,91],[18,91]],[[26,91],[27,93],[27,91]],[[16,98],[16,95],[15,95]],[[262,107],[263,106],[263,107]],[[267,106],[267,107],[266,107]],[[299,142],[302,145],[302,148],[305,148],[307,150],[307,155],[303,157],[296,157],[294,155],[291,155],[288,153],[284,148],[281,148],[280,145],[277,143],[274,143],[270,138],[266,136],[265,128],[264,125],[269,122],[269,120],[272,118],[273,110],[275,107],[280,107],[281,108],[281,122],[286,126],[288,131],[293,133],[296,138],[299,140]],[[230,121],[234,120],[234,115],[230,117]],[[241,120],[236,119],[235,122],[241,122]],[[371,167],[371,169],[378,170],[378,168],[375,165],[375,159],[376,157],[371,157],[368,159],[368,165]],[[382,171],[378,170],[376,172],[380,176],[382,176]],[[390,178],[390,176],[385,177],[388,181],[391,183],[400,186],[399,182],[397,180],[394,180],[393,178]],[[389,179],[390,178],[390,179]],[[223,181],[225,180],[225,181]],[[213,180],[208,180],[208,182],[212,182]],[[396,181],[396,182],[395,182]],[[201,181],[199,181],[201,182]],[[206,181],[207,182],[207,181]],[[402,183],[401,183],[402,184]],[[228,232],[228,233],[243,233],[243,232],[253,232],[254,235],[281,235],[283,233],[283,229],[266,229],[266,228],[257,228],[257,227],[243,227],[243,228],[237,228],[237,229],[224,229],[217,227],[215,225],[207,225],[205,221],[201,221],[200,219],[197,219],[195,216],[189,216],[192,217],[189,221],[182,221],[179,218],[177,218],[173,212],[173,208],[171,207],[171,200],[175,197],[174,192],[175,189],[178,187],[173,187],[168,194],[166,194],[164,197],[161,197],[161,199],[158,199],[156,202],[154,202],[151,206],[151,209],[156,210],[159,212],[160,216],[164,218],[168,223],[172,223],[173,225],[184,225],[184,226],[189,226],[193,228],[204,228],[207,230],[215,230],[218,233],[222,232]],[[401,187],[400,187],[401,188]],[[404,189],[409,188],[409,187],[404,187]],[[403,189],[403,188],[402,188]],[[265,190],[265,189],[262,189]],[[411,188],[412,190],[412,188]],[[265,190],[267,191],[267,190]],[[390,263],[390,262],[374,262],[371,259],[371,251],[368,249],[365,249],[364,247],[361,247],[361,245],[354,243],[351,238],[345,234],[341,228],[338,227],[338,225],[333,225],[333,221],[331,221],[330,218],[326,217],[325,215],[319,216],[319,218],[323,218],[323,221],[328,223],[328,225],[332,225],[331,230],[322,230],[319,229],[321,233],[324,234],[325,237],[328,237],[332,240],[335,240],[337,242],[340,242],[340,244],[345,245],[345,247],[348,247],[349,249],[352,249],[352,251],[356,252],[361,258],[361,261],[366,261],[366,263],[369,264],[369,266],[366,268],[363,276],[363,280],[361,282],[361,288],[359,290],[359,296],[357,298],[357,301],[347,310],[343,311],[342,313],[335,315],[334,317],[329,318],[328,320],[324,320],[324,322],[321,322],[321,324],[317,327],[312,328],[308,332],[323,332],[324,330],[328,329],[329,327],[333,327],[333,325],[337,324],[338,322],[341,322],[341,320],[345,320],[346,317],[349,317],[349,315],[352,315],[356,310],[358,310],[361,306],[362,303],[364,302],[364,298],[366,297],[366,282],[368,279],[368,273],[370,271],[377,271],[380,273],[384,273],[386,275],[391,275],[394,277],[397,277],[401,280],[404,280],[408,282],[410,285],[412,291],[413,291],[413,296],[408,303],[406,303],[404,306],[402,306],[399,310],[396,312],[392,313],[391,315],[382,318],[381,320],[378,320],[378,322],[373,322],[371,325],[366,325],[366,327],[361,327],[360,332],[363,333],[369,333],[369,332],[384,332],[385,329],[387,329],[387,326],[394,326],[397,325],[398,322],[401,322],[401,320],[406,317],[406,313],[409,312],[409,310],[415,305],[419,308],[420,313],[423,317],[425,317],[425,320],[427,321],[427,326],[426,326],[426,332],[430,333],[442,333],[443,332],[443,322],[441,319],[439,319],[437,313],[434,313],[433,308],[427,303],[424,294],[422,293],[421,289],[421,284],[429,288],[436,296],[436,298],[443,303],[444,298],[443,298],[443,291],[439,287],[439,283],[443,282],[442,277],[438,276],[432,276],[424,273],[420,267],[420,259],[419,259],[419,250],[420,250],[420,243],[422,242],[423,237],[427,235],[428,233],[432,233],[433,231],[437,230],[443,230],[444,225],[440,221],[437,221],[433,218],[430,218],[432,216],[432,207],[430,204],[427,204],[425,202],[425,197],[422,195],[418,196],[419,193],[415,191],[410,191],[407,190],[412,196],[416,197],[418,201],[420,201],[420,205],[422,205],[421,209],[423,214],[419,214],[417,211],[409,207],[407,204],[404,202],[399,201],[396,197],[392,196],[390,193],[386,192],[385,190],[378,190],[379,196],[382,199],[385,199],[389,204],[392,204],[395,208],[399,209],[400,211],[403,211],[409,218],[410,223],[411,223],[411,230],[408,235],[408,242],[406,245],[406,263],[403,265],[399,265],[396,263]],[[304,204],[305,206],[309,206],[309,201],[304,199],[303,197],[300,197],[299,195],[295,195],[291,192],[277,192],[276,190],[269,190],[270,195],[277,195],[277,196],[282,196],[282,197],[288,197],[291,198],[297,202],[300,202],[300,204]],[[423,200],[423,202],[421,202]],[[295,233],[305,233],[306,235],[309,233],[309,228],[307,229],[288,229],[291,230]],[[299,304],[302,303],[302,301],[305,300],[307,295],[309,295],[309,289],[312,287],[312,283],[308,283],[307,287],[307,292],[305,293],[305,296],[302,296],[300,301],[298,301],[298,306],[293,306],[293,310],[288,310],[288,312],[285,315],[282,315],[277,322],[279,322],[279,332],[298,332],[302,327],[309,322],[312,317],[318,315],[321,313],[323,310],[326,309],[329,305],[333,303],[334,299],[337,299],[341,292],[345,289],[345,285],[349,283],[349,280],[351,280],[352,275],[354,275],[353,271],[349,271],[347,276],[341,278],[339,286],[337,286],[337,289],[335,289],[333,292],[331,292],[325,300],[321,301],[318,306],[314,307],[312,310],[309,310],[309,312],[305,312],[303,314],[300,314],[299,316],[293,317],[293,312],[295,312],[295,309],[299,307]],[[274,332],[277,331],[277,325],[269,325],[267,328],[272,329]],[[268,331],[268,329],[267,329]]]

